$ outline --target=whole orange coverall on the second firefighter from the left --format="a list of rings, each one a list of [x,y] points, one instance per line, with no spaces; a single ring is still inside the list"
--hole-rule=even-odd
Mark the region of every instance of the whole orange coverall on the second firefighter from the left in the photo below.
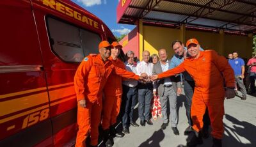
[[[120,59],[114,60],[109,57],[109,60],[113,65],[118,66],[125,70],[125,65]],[[103,110],[102,110],[102,128],[106,130],[110,125],[116,123],[116,117],[120,112],[120,105],[122,102],[122,77],[116,75],[115,72],[111,72],[108,77],[108,83],[104,87],[104,99],[103,99]]]

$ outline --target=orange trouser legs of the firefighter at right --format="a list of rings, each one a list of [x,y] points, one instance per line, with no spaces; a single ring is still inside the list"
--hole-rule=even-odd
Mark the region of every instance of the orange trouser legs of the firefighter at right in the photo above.
[[[191,118],[193,129],[196,132],[202,130],[204,126],[203,116],[205,109],[208,107],[209,118],[211,120],[212,137],[221,139],[223,137],[223,115],[224,115],[224,98],[203,98],[202,94],[195,94],[192,98]]]

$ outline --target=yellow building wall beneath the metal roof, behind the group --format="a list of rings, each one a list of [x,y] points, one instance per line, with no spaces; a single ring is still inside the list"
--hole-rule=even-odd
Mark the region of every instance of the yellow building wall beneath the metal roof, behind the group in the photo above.
[[[142,24],[142,23],[141,23]],[[252,57],[252,35],[225,35],[223,31],[217,33],[186,30],[184,27],[177,29],[157,26],[140,26],[140,53],[143,50],[150,54],[157,54],[159,49],[167,49],[168,57],[174,54],[171,44],[173,40],[188,40],[196,38],[203,49],[213,49],[219,54],[227,56],[229,52],[237,50],[241,58]],[[182,39],[183,38],[183,39]],[[186,42],[184,42],[186,44]],[[140,54],[140,61],[142,54]]]

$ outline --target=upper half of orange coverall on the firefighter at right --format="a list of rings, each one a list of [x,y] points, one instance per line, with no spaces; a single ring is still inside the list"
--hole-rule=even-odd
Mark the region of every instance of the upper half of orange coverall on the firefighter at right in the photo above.
[[[204,98],[225,96],[223,78],[227,87],[235,86],[234,71],[227,59],[214,50],[200,51],[199,58],[187,58],[176,68],[159,74],[158,78],[170,77],[185,70],[195,80],[195,94],[200,93]]]

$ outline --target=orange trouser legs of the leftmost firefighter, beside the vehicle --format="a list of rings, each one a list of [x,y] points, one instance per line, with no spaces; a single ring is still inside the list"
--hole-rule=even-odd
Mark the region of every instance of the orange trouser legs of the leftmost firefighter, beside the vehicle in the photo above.
[[[98,144],[100,125],[100,115],[102,111],[102,104],[86,101],[86,107],[83,108],[80,105],[77,106],[77,124],[79,130],[76,137],[76,147],[85,147],[85,141],[90,132],[92,146]]]

